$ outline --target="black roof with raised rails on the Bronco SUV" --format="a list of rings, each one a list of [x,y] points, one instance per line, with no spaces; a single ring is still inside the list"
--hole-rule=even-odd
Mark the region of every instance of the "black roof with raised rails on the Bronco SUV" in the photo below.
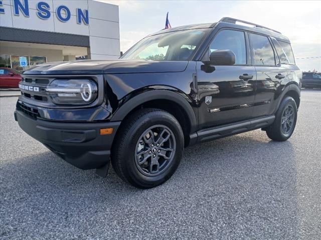
[[[253,25],[253,27],[248,26],[248,25],[237,24],[237,22],[243,22],[248,25]],[[223,17],[218,22],[214,22],[214,23],[213,22],[212,23],[198,23],[198,24],[191,24],[191,25],[172,27],[172,28],[168,28],[168,29],[162,29],[162,30],[157,31],[155,33],[149,34],[148,36],[156,35],[156,34],[160,34],[160,33],[165,33],[165,32],[180,31],[180,30],[213,28],[213,27],[218,26],[218,24],[226,26],[226,27],[232,27],[232,28],[237,27],[239,29],[258,32],[258,33],[266,34],[269,36],[273,36],[278,40],[290,42],[289,39],[286,36],[282,35],[279,31],[273,30],[271,28],[268,28],[268,27],[265,27],[265,26],[262,26],[262,25],[259,25],[256,23],[243,21],[243,20],[239,20],[239,19],[235,19],[235,18],[231,18],[231,17]]]

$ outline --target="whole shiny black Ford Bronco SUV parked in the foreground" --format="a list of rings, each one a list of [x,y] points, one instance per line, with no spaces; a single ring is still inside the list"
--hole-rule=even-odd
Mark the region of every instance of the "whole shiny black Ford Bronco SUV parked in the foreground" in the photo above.
[[[106,176],[111,160],[149,188],[171,177],[185,146],[257,128],[288,139],[301,77],[287,37],[225,17],[148,35],[120,59],[30,68],[15,118],[71,164]]]

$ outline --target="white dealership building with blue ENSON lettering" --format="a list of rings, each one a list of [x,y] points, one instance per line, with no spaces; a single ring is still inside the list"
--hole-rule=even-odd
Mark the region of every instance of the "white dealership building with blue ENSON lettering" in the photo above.
[[[0,0],[0,66],[120,56],[118,5],[95,0]]]

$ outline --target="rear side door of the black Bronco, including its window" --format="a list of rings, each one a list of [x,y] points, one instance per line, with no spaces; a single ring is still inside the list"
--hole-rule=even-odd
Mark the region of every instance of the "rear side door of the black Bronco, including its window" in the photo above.
[[[277,106],[282,88],[289,82],[287,68],[280,64],[270,37],[248,34],[251,62],[255,66],[257,79],[252,117],[271,115]]]

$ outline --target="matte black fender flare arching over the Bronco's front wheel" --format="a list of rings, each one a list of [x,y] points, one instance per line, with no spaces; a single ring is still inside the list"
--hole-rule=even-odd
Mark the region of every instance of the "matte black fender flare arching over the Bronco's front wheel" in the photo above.
[[[171,100],[176,102],[182,107],[182,110],[186,113],[188,120],[191,123],[191,133],[195,132],[197,129],[197,118],[193,111],[191,104],[188,100],[179,93],[166,89],[153,89],[148,91],[143,91],[138,95],[133,96],[128,99],[111,117],[111,121],[121,121],[125,116],[135,107],[141,105],[144,102],[150,100]]]

